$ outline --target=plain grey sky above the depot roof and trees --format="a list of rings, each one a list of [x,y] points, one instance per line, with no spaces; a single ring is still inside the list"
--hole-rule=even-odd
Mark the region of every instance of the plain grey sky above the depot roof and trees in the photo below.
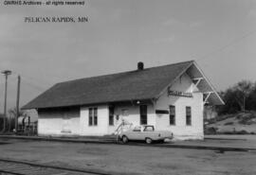
[[[41,0],[45,1],[45,0]],[[54,83],[195,60],[217,91],[256,81],[255,0],[86,0],[84,6],[4,6],[0,70],[8,108]],[[25,23],[27,16],[85,16],[87,23]],[[0,113],[4,106],[0,76]]]

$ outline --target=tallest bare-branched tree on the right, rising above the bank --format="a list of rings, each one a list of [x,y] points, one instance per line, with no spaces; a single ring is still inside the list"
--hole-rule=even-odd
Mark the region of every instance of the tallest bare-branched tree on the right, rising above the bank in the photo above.
[[[240,106],[241,111],[246,110],[246,100],[253,90],[253,83],[249,80],[242,80],[234,86],[235,99]]]

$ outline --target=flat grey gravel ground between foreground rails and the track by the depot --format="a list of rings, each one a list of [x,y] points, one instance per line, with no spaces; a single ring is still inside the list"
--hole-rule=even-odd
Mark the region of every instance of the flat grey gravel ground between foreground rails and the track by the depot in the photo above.
[[[256,140],[256,139],[255,139]],[[256,174],[256,152],[224,153],[203,149],[171,149],[141,146],[76,144],[45,141],[0,140],[0,158],[49,165],[93,168],[128,174],[251,175]],[[204,143],[186,141],[183,143]],[[223,145],[218,140],[207,144]],[[227,140],[224,145],[248,145],[247,140]]]

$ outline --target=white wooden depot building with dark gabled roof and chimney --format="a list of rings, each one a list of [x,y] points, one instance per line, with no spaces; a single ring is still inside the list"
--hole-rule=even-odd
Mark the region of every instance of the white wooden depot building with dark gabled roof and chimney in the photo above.
[[[122,121],[202,139],[204,105],[224,104],[195,61],[55,84],[23,107],[36,109],[39,135],[106,135]]]

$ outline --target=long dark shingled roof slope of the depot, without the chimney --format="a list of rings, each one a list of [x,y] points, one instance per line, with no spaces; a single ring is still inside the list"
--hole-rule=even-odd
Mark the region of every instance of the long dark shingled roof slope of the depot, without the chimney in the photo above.
[[[23,109],[133,101],[157,97],[193,61],[57,83]]]

